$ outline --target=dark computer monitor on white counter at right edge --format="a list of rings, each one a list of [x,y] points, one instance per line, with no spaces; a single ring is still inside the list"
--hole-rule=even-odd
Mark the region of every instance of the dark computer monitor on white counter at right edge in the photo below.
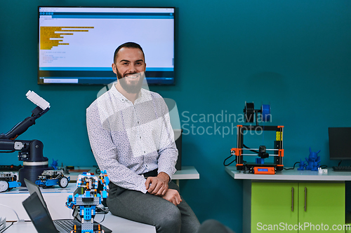
[[[351,160],[351,127],[329,127],[331,160]]]

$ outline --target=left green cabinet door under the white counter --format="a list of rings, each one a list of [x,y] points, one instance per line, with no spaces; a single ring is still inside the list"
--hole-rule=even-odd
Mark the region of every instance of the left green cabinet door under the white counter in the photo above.
[[[298,183],[251,184],[251,232],[298,232]]]

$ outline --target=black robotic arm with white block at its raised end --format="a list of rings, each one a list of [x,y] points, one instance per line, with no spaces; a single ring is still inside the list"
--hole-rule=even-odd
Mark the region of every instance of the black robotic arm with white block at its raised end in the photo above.
[[[48,169],[48,158],[43,156],[43,143],[38,140],[23,141],[15,140],[23,134],[29,127],[35,124],[35,120],[50,110],[50,104],[38,94],[28,91],[27,99],[37,104],[32,111],[32,115],[19,122],[6,134],[0,134],[0,152],[13,153],[18,150],[18,160],[23,161],[23,168],[19,171],[20,183],[25,185],[24,178],[29,181],[37,181],[38,176]],[[2,150],[2,151],[1,151]]]

